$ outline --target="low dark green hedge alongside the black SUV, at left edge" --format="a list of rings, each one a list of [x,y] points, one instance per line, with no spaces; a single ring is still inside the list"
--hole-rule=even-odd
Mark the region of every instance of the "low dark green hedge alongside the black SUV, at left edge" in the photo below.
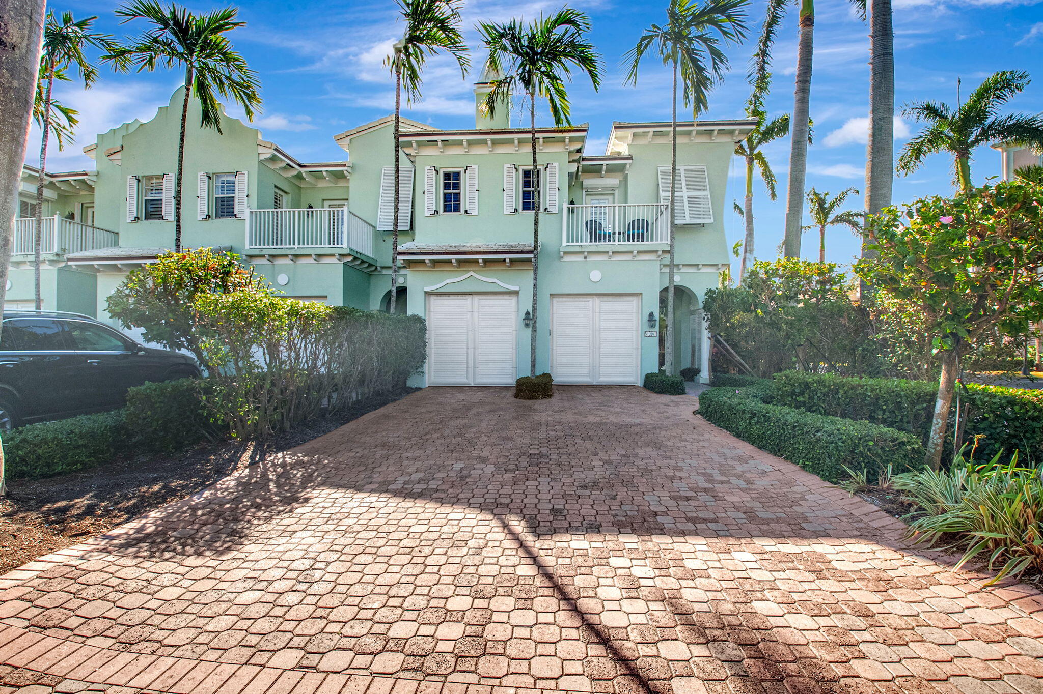
[[[3,437],[6,476],[50,477],[108,463],[130,445],[122,410],[29,424]]]

